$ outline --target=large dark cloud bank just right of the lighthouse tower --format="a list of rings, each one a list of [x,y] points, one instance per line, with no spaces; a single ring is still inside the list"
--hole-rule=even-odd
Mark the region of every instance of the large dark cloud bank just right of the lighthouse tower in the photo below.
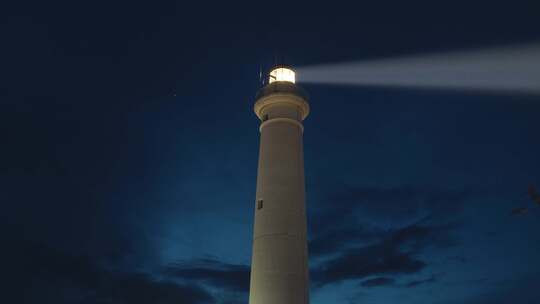
[[[328,196],[332,208],[319,210],[310,227],[314,285],[380,275],[395,280],[388,276],[421,272],[428,265],[419,256],[427,248],[457,244],[451,235],[453,221],[474,195],[469,190],[356,187]],[[395,227],[378,226],[383,218]],[[404,284],[424,283],[428,281]]]

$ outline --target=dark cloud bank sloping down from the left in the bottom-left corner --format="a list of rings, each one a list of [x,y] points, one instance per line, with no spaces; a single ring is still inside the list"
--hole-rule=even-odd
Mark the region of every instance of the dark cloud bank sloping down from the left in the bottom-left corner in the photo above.
[[[22,303],[213,303],[196,284],[178,284],[150,274],[115,272],[84,256],[48,246],[17,242],[11,245],[7,273],[15,285],[8,297]],[[22,297],[22,298],[21,298]]]

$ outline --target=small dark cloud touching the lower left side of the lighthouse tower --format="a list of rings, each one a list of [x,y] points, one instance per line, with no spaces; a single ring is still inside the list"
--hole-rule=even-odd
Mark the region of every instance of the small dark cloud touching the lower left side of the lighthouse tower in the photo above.
[[[199,259],[168,266],[165,274],[187,281],[200,281],[229,291],[248,292],[250,267]]]

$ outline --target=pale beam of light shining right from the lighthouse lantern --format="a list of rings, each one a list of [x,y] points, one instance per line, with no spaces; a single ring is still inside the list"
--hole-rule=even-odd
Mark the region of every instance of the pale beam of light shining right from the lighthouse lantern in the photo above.
[[[540,94],[540,44],[299,67],[301,83]]]

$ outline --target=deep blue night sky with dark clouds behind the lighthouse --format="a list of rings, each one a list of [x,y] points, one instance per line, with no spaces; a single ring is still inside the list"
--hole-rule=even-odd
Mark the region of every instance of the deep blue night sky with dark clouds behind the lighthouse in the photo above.
[[[261,66],[538,42],[539,12],[3,5],[0,302],[247,303]],[[304,88],[313,304],[540,303],[539,96]]]

